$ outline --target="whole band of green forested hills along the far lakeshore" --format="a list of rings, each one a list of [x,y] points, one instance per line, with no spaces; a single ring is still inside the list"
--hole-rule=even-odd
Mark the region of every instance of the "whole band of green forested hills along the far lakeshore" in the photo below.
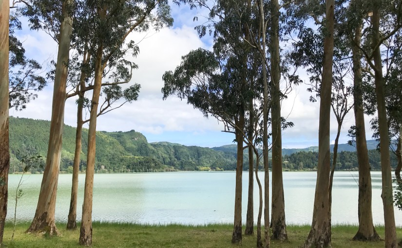
[[[26,118],[10,118],[10,172],[20,172],[23,165],[19,159],[25,155],[40,155],[46,157],[49,121]],[[60,170],[72,173],[74,162],[74,142],[76,128],[65,125],[63,133],[63,148]],[[85,171],[88,130],[82,132],[82,154],[80,171]],[[369,148],[375,148],[377,142],[367,141]],[[185,146],[170,142],[149,143],[144,135],[134,130],[128,132],[96,132],[96,172],[163,172],[163,171],[202,171],[202,170],[235,170],[236,145],[220,147]],[[351,152],[353,146],[340,145],[338,155],[338,170],[357,170],[356,152]],[[317,147],[303,149],[283,149],[284,170],[316,170],[318,162]],[[377,150],[369,150],[372,170],[380,170],[380,154]],[[245,150],[244,164],[248,162]],[[391,166],[397,165],[397,158],[391,154]],[[248,168],[244,166],[244,170]],[[263,170],[262,166],[260,168]],[[43,171],[34,166],[32,173]]]

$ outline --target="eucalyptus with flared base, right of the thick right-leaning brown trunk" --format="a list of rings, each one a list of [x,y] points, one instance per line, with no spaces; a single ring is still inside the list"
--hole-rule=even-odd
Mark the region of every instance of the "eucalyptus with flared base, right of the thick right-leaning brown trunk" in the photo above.
[[[349,47],[352,54],[353,109],[355,116],[353,136],[356,142],[356,153],[359,164],[359,229],[353,237],[353,240],[375,241],[379,240],[380,236],[373,225],[371,174],[364,124],[363,54],[360,50],[360,46],[362,45],[364,16],[366,14],[358,7],[358,3],[359,0],[352,0],[349,2],[349,5],[345,7],[347,8],[345,14],[348,15],[348,13],[352,13],[354,17],[351,18],[352,21],[348,21],[347,18],[346,20],[343,20],[345,23],[344,30],[348,35]]]

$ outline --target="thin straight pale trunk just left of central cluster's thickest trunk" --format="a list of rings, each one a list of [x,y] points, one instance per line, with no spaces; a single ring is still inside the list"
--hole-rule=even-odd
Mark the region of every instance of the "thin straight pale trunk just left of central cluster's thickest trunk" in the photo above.
[[[266,63],[266,26],[264,15],[264,2],[260,0],[260,19],[262,35],[261,60],[263,68],[264,99],[263,99],[263,162],[264,162],[264,247],[269,248],[269,168],[268,168],[268,80]]]

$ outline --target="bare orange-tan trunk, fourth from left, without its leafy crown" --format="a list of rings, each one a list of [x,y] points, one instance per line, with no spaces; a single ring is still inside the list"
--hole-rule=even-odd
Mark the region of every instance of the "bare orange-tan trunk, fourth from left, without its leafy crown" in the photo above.
[[[96,117],[99,105],[99,95],[102,86],[102,53],[100,44],[96,52],[95,83],[91,101],[91,113],[88,128],[87,169],[85,173],[84,204],[82,205],[81,228],[79,244],[92,245],[92,196],[94,192],[95,152],[96,152]]]

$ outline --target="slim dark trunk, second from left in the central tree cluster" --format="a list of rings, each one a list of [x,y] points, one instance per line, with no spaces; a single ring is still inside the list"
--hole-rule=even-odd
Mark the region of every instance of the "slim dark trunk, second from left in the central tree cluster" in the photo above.
[[[254,134],[254,117],[252,113],[252,101],[249,104],[250,108],[250,120],[249,120],[249,142],[253,140]],[[254,190],[254,177],[253,177],[253,170],[254,170],[254,150],[252,144],[249,144],[249,197],[247,202],[247,215],[246,215],[246,230],[244,231],[245,235],[253,234],[254,229],[254,199],[253,199],[253,190]],[[258,160],[258,155],[257,160]]]

